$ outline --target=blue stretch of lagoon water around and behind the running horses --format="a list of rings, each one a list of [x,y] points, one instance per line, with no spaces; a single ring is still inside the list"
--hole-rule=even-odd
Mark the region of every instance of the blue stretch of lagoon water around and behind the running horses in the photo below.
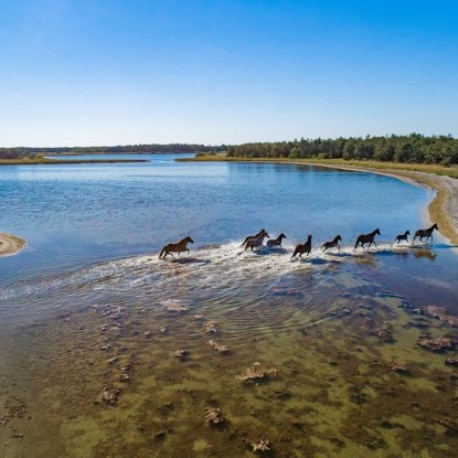
[[[340,234],[347,255],[335,259],[342,270],[350,268],[353,275],[394,288],[409,300],[423,303],[440,297],[441,305],[456,303],[458,256],[438,234],[426,251],[391,248],[397,234],[426,226],[429,191],[351,171],[175,162],[177,155],[126,158],[149,162],[0,168],[0,231],[28,239],[19,255],[0,259],[0,287],[8,291],[0,296],[0,308],[8,302],[14,310],[21,288],[34,290],[34,285],[55,275],[84,273],[118,258],[156,258],[164,244],[187,235],[195,242],[194,254],[209,247],[235,249],[246,235],[263,227],[271,237],[287,235],[285,259],[295,244],[312,234],[316,268],[326,268],[320,267],[319,246]],[[376,266],[345,263],[353,258],[358,234],[376,227],[382,233]],[[269,267],[268,253],[264,257],[253,275],[262,276]],[[286,275],[281,266],[268,275]],[[237,267],[227,264],[225,275],[231,276],[232,268]],[[28,313],[40,310],[30,297],[28,301]]]

